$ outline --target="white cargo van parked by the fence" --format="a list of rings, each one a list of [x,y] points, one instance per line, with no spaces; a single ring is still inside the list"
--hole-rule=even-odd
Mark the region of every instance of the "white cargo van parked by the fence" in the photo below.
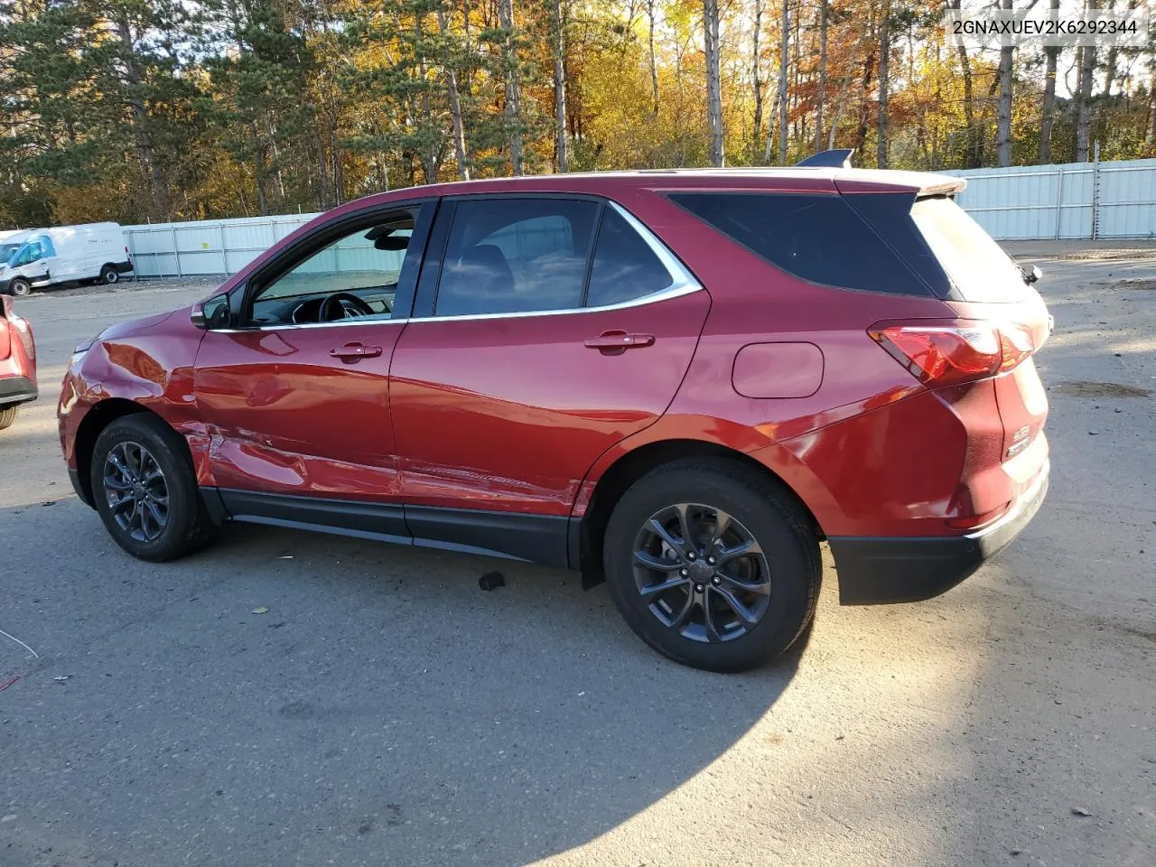
[[[116,283],[133,269],[119,223],[29,229],[0,240],[3,251],[0,292],[10,295],[60,283]]]

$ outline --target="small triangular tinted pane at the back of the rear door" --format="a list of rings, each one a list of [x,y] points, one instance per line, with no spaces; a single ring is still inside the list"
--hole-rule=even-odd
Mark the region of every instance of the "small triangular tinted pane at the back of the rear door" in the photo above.
[[[674,281],[650,245],[614,208],[598,230],[586,305],[591,307],[660,292]]]

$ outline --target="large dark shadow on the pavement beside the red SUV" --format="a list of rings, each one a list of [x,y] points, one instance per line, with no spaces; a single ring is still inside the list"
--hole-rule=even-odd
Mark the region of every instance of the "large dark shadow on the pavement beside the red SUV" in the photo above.
[[[22,679],[0,692],[0,756],[38,769],[0,781],[13,867],[45,846],[150,867],[532,862],[709,769],[806,643],[692,670],[576,575],[295,531],[235,526],[147,564],[75,499],[0,510],[0,629],[39,653],[0,646],[0,682]],[[505,584],[483,591],[492,570]]]

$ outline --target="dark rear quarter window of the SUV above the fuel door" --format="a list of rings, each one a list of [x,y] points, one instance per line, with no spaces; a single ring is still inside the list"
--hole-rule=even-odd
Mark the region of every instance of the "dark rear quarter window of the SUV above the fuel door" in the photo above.
[[[842,195],[672,193],[670,199],[776,267],[813,283],[933,294]]]

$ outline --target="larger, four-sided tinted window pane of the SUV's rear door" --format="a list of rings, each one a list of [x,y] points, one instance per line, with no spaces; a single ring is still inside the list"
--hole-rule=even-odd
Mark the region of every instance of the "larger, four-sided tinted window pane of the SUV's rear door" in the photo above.
[[[577,199],[459,201],[435,316],[580,307],[599,210]]]

